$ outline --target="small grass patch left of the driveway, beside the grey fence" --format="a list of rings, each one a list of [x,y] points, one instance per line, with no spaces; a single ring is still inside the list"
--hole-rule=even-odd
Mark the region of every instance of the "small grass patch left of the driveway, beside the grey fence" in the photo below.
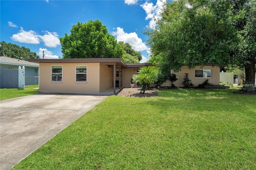
[[[22,88],[0,89],[0,100],[12,99],[38,93],[38,85],[26,85],[25,90]]]

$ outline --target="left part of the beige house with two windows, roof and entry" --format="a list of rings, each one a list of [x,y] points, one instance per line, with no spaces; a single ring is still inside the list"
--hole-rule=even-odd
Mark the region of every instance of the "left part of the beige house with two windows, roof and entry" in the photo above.
[[[152,63],[124,63],[121,58],[29,59],[40,64],[39,92],[116,93],[130,87],[138,69]],[[135,87],[138,87],[136,84]]]

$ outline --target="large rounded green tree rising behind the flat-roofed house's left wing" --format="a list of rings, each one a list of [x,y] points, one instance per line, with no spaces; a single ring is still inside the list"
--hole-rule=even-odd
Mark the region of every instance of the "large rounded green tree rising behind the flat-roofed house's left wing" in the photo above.
[[[63,58],[120,58],[123,49],[99,20],[73,25],[60,38]]]

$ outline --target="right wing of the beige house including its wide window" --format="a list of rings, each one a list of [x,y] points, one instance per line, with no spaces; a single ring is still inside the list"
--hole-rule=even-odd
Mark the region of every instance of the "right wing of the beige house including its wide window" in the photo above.
[[[176,87],[183,87],[182,82],[185,73],[188,73],[189,79],[192,81],[192,83],[195,85],[195,87],[198,87],[199,84],[202,84],[205,79],[209,79],[209,83],[213,85],[220,85],[220,68],[215,66],[212,67],[211,65],[205,65],[204,67],[196,66],[194,69],[189,69],[187,66],[182,66],[181,71],[179,72],[173,72],[176,74],[179,79],[174,82],[174,85]],[[162,85],[162,87],[170,86],[170,81],[166,81]]]

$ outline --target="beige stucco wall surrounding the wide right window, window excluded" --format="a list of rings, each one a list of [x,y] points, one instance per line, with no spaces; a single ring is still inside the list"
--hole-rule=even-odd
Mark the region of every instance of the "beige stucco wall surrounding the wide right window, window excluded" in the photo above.
[[[212,70],[212,77],[195,77],[195,69],[211,69]],[[192,83],[195,85],[195,87],[197,87],[199,84],[202,84],[204,82],[205,79],[209,79],[209,82],[212,83],[213,85],[219,85],[220,84],[220,68],[219,67],[212,67],[210,65],[206,65],[203,68],[200,68],[200,66],[196,66],[194,69],[189,69],[187,66],[182,66],[181,67],[181,71],[177,72],[172,72],[174,74],[176,74],[179,79],[177,81],[174,82],[174,85],[176,87],[183,87],[182,82],[183,82],[183,78],[185,73],[188,73],[188,77],[189,79],[192,81]],[[170,86],[171,83],[170,81],[166,81],[166,83],[164,83],[162,86],[166,87],[166,86]]]

